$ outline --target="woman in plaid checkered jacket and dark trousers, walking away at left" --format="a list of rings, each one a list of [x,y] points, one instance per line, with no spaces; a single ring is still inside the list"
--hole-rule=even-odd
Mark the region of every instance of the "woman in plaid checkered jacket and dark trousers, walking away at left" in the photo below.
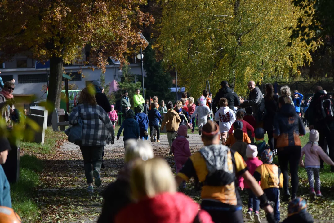
[[[101,185],[100,169],[102,153],[106,144],[114,144],[115,132],[107,112],[97,104],[87,88],[80,92],[79,104],[69,115],[69,124],[75,126],[79,118],[82,121],[82,141],[79,142],[83,157],[83,166],[88,183],[88,192],[93,193],[93,176],[95,185]]]

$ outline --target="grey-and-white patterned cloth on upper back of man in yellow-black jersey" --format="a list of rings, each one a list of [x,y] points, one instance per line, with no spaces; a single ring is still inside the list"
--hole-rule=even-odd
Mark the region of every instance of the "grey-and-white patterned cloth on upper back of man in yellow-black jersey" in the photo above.
[[[223,145],[204,146],[199,150],[205,159],[209,175],[217,170],[233,173],[233,168],[228,167],[228,151],[229,148]]]

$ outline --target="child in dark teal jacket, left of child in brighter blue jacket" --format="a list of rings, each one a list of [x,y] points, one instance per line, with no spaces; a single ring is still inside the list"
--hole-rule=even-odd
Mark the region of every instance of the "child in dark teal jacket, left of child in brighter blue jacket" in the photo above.
[[[135,112],[132,111],[131,109],[129,109],[126,112],[126,117],[127,117],[127,119],[125,119],[122,122],[122,125],[121,125],[120,129],[118,130],[116,140],[120,139],[120,135],[121,135],[123,129],[124,129],[124,132],[123,132],[123,136],[124,136],[123,141],[124,142],[128,139],[138,140],[138,138],[139,138],[139,124],[134,119],[135,118]]]

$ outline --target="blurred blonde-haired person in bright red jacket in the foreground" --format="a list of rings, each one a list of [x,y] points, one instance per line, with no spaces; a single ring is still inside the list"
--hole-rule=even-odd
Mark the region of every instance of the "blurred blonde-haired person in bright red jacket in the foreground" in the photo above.
[[[197,203],[176,192],[173,173],[162,158],[138,160],[130,185],[136,203],[122,209],[115,218],[116,223],[212,223],[206,211],[198,211]]]

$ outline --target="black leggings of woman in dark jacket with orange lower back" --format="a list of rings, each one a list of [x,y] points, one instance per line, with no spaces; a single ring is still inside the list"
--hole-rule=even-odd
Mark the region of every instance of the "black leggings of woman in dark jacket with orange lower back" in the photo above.
[[[284,179],[283,188],[285,192],[289,190],[288,165],[290,164],[292,195],[297,195],[298,183],[299,183],[298,165],[299,165],[301,150],[302,150],[301,146],[287,146],[277,149],[278,161],[280,163]]]

